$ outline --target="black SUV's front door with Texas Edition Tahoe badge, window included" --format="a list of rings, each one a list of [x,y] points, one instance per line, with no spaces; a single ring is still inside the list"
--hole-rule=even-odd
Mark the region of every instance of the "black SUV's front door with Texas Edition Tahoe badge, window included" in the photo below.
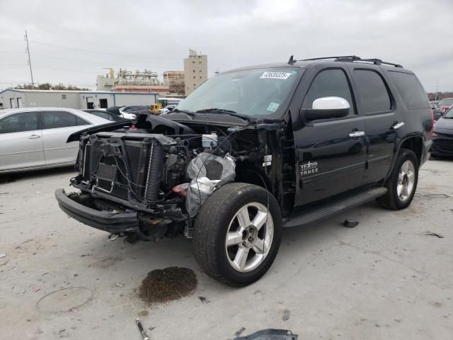
[[[348,73],[342,66],[316,72],[304,74],[306,81],[310,77],[313,80],[302,109],[311,108],[318,98],[336,96],[348,101],[350,114],[345,118],[305,120],[303,128],[294,130],[296,206],[357,188],[365,171],[365,122],[357,115]]]

